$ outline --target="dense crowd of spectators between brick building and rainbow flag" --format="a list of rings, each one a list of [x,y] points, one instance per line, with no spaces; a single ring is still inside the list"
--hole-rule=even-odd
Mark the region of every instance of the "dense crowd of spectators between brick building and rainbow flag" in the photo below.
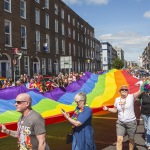
[[[38,89],[40,92],[44,93],[47,91],[52,91],[57,87],[66,88],[73,81],[79,80],[85,74],[83,72],[79,73],[59,73],[58,76],[43,76],[40,73],[34,74],[32,78],[29,78],[26,74],[22,74],[19,79],[17,79],[14,84],[12,79],[7,79],[0,81],[0,89],[24,85],[28,89]]]

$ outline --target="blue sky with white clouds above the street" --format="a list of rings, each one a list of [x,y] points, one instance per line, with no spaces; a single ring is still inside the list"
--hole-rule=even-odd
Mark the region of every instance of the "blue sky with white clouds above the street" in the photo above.
[[[138,62],[150,42],[150,0],[62,0],[95,30],[95,38]]]

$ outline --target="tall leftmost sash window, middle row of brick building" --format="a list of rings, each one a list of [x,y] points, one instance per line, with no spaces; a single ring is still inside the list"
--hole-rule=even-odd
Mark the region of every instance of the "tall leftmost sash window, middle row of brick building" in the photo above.
[[[11,21],[5,20],[5,45],[12,45]]]

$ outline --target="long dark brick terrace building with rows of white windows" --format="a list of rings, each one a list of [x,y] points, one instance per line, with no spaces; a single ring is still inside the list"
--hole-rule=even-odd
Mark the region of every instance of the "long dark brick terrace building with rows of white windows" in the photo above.
[[[91,70],[94,28],[64,2],[1,0],[0,6],[0,76]]]

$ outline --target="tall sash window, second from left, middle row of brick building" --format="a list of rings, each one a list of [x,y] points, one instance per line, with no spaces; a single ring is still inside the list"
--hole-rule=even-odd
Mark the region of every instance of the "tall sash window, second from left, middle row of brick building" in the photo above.
[[[21,26],[21,47],[27,48],[27,35],[26,35],[26,27]]]

